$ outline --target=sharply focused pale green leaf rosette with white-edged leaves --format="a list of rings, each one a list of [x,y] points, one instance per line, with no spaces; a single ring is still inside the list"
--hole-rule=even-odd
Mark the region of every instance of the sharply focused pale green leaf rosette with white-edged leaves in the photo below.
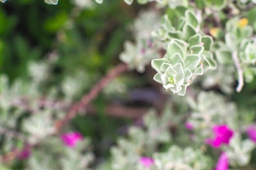
[[[212,38],[200,34],[192,36],[189,44],[172,39],[167,47],[167,55],[163,59],[152,60],[151,65],[157,71],[154,80],[166,90],[183,96],[195,77],[216,68],[212,53],[207,51],[212,43]]]

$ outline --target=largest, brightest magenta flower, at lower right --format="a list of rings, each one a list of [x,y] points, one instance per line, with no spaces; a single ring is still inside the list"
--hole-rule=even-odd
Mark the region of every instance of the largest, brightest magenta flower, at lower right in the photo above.
[[[234,132],[227,125],[215,125],[212,130],[215,137],[206,139],[205,143],[214,148],[219,148],[222,144],[229,144],[231,137],[234,135]]]

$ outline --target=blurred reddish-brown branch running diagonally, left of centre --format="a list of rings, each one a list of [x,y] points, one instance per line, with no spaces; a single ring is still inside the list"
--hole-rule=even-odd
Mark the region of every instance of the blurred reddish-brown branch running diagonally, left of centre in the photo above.
[[[55,128],[56,131],[59,132],[67,122],[73,119],[76,114],[85,109],[88,104],[95,99],[99,92],[108,85],[108,83],[117,77],[119,74],[124,73],[128,70],[128,66],[126,64],[119,64],[115,68],[111,69],[108,74],[103,77],[90,91],[88,94],[84,95],[79,102],[76,102],[73,106],[71,106],[70,110],[67,112],[63,119],[56,121]]]

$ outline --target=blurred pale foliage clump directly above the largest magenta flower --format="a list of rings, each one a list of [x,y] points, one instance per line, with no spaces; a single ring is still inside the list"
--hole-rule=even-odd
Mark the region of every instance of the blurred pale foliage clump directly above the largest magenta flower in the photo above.
[[[188,104],[193,108],[189,122],[200,134],[209,135],[211,127],[215,124],[238,128],[236,105],[226,102],[219,94],[202,91],[198,94],[197,101],[189,98]]]

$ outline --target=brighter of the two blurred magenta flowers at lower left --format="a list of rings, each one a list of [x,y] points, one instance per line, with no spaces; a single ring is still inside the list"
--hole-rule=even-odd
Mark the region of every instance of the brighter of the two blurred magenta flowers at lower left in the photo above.
[[[81,141],[83,136],[79,132],[69,132],[61,135],[61,140],[65,144],[65,146],[73,148],[76,146],[78,141]]]

